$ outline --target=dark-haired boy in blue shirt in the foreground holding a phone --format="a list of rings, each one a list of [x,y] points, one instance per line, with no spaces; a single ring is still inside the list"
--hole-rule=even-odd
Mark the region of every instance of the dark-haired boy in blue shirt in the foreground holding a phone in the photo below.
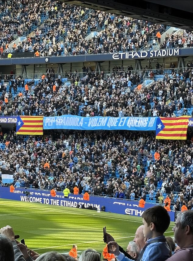
[[[145,247],[142,249],[137,261],[164,261],[170,257],[170,248],[167,245],[163,233],[170,224],[170,216],[162,206],[154,206],[146,209],[142,214],[143,234],[147,240]],[[112,244],[112,253],[117,261],[132,261],[121,252],[116,242]],[[110,244],[109,243],[109,244]]]

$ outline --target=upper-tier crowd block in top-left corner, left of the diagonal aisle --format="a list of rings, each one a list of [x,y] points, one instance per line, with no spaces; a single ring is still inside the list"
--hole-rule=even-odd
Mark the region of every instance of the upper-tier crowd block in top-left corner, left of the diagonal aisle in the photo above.
[[[11,51],[10,43],[19,36],[27,36],[43,20],[57,11],[57,1],[1,1],[0,47],[1,55]],[[13,51],[18,49],[14,46]]]

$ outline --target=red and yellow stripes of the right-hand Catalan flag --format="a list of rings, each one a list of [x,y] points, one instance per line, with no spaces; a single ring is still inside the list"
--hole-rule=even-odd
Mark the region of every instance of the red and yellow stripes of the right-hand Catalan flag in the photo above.
[[[187,139],[189,118],[190,116],[176,118],[160,117],[165,128],[156,135],[156,139]]]

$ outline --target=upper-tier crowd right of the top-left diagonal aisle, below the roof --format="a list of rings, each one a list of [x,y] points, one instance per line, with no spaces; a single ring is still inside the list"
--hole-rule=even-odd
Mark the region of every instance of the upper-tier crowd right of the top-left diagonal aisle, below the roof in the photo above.
[[[52,5],[52,9],[54,8]],[[147,48],[148,42],[166,30],[166,26],[99,10],[61,5],[53,9],[42,26],[22,41],[16,51],[38,51],[44,56],[82,55],[134,51]],[[88,40],[92,31],[98,33]]]

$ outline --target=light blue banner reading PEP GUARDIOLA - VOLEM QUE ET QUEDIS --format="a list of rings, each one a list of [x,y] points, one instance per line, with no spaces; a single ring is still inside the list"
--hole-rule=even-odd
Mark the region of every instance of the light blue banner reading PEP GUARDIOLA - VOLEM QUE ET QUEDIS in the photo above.
[[[157,117],[80,117],[63,115],[44,117],[44,129],[73,130],[156,130]]]

